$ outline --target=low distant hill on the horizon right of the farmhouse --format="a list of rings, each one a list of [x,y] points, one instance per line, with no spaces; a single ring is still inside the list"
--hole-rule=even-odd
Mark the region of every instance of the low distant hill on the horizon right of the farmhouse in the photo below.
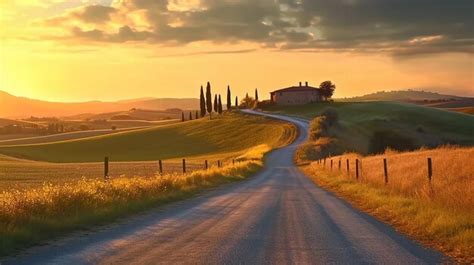
[[[350,101],[437,101],[437,100],[464,100],[466,97],[443,95],[421,90],[379,91],[359,97],[345,98]]]

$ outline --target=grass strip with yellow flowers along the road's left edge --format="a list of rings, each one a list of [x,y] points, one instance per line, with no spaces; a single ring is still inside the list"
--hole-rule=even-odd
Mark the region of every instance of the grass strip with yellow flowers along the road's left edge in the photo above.
[[[243,180],[263,165],[268,145],[250,148],[235,165],[189,174],[81,180],[0,193],[0,256],[44,240]]]

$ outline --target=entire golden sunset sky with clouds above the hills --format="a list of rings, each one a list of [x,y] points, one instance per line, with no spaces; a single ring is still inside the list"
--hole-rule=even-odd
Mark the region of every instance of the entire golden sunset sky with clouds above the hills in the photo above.
[[[472,0],[0,0],[0,90],[52,101],[245,95],[474,96]]]

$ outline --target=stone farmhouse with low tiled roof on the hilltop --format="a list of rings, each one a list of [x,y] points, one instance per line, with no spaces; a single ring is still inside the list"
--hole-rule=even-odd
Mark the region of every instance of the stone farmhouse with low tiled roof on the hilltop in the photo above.
[[[271,102],[277,105],[301,105],[322,101],[321,90],[308,85],[292,86],[275,90],[270,93]]]

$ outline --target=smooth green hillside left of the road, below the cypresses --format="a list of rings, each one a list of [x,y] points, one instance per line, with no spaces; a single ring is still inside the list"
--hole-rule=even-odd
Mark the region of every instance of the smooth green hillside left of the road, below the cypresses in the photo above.
[[[49,162],[144,161],[235,152],[291,138],[293,128],[281,122],[226,114],[156,128],[48,144],[0,147],[0,153]]]

